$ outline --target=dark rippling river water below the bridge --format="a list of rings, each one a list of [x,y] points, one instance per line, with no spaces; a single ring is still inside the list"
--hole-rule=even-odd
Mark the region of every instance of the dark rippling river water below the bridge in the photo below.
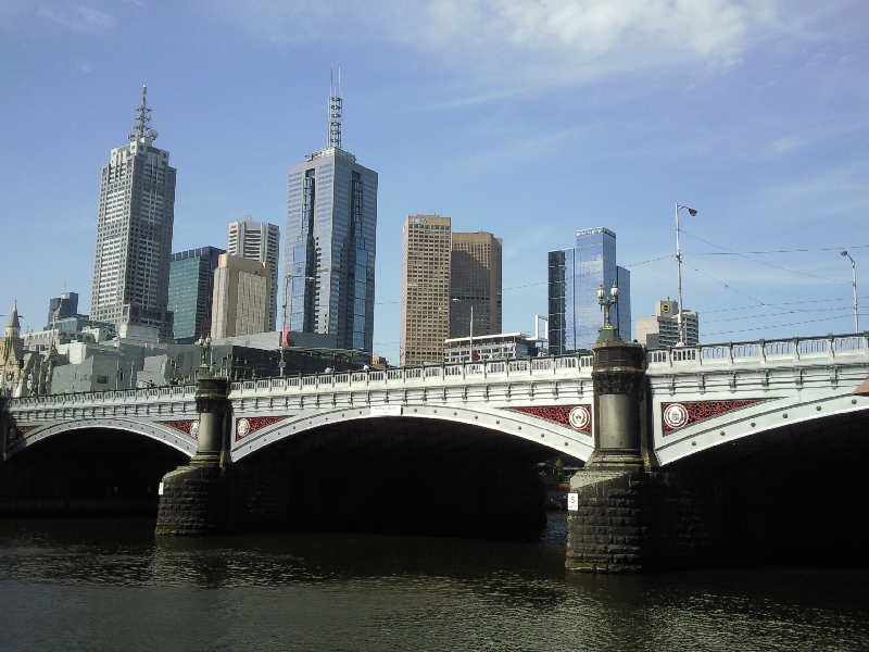
[[[0,650],[869,650],[869,570],[640,576],[537,543],[0,521]]]

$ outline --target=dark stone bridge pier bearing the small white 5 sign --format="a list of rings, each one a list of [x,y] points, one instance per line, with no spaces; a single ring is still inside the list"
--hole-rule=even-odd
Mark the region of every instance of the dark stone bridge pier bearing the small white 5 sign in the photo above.
[[[720,542],[715,486],[655,469],[646,349],[605,336],[602,329],[592,369],[594,452],[570,479],[578,504],[568,515],[565,565],[618,573],[707,561]]]

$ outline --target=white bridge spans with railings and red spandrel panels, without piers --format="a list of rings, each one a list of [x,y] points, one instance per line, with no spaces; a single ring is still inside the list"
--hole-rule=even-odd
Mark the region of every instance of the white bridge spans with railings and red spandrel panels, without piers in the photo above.
[[[756,446],[806,422],[865,413],[854,396],[869,377],[867,336],[684,347],[647,352],[641,424],[653,466],[709,449]],[[336,424],[429,419],[483,428],[588,461],[594,451],[591,355],[487,361],[232,383],[234,461]],[[63,432],[110,428],[197,451],[196,386],[9,400],[9,460]]]

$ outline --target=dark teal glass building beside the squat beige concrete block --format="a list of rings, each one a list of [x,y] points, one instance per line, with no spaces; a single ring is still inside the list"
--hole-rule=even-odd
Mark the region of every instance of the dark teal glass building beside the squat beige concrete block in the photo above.
[[[214,271],[223,249],[201,247],[172,254],[168,306],[176,343],[190,344],[211,333]]]

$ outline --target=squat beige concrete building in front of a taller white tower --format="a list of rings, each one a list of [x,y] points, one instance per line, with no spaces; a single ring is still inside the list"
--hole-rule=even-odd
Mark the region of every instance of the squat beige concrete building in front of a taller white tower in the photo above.
[[[270,288],[272,265],[222,253],[214,271],[211,338],[268,330]]]

